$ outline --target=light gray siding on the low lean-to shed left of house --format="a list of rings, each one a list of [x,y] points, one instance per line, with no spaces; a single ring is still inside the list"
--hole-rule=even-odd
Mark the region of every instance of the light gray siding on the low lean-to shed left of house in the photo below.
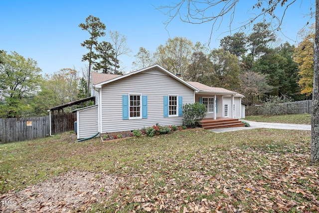
[[[95,135],[98,128],[98,106],[77,111],[77,138],[87,138]]]

